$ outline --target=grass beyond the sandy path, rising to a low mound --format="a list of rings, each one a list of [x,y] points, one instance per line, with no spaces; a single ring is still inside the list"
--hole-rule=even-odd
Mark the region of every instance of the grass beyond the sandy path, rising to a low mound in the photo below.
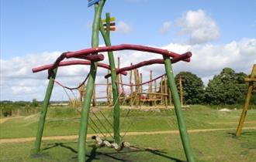
[[[120,131],[157,131],[177,130],[178,123],[175,110],[122,110],[120,113]],[[107,120],[112,123],[112,110],[102,110]],[[207,106],[190,106],[183,110],[186,125],[189,130],[205,128],[237,127],[241,110],[220,112]],[[95,115],[96,114],[96,115]],[[101,113],[91,113],[88,133],[94,130],[112,131],[112,126]],[[97,117],[99,120],[97,119]],[[39,114],[14,118],[0,124],[0,138],[35,137]],[[256,110],[249,110],[246,121],[256,120]],[[225,124],[226,122],[226,124]],[[231,123],[230,123],[231,122]],[[95,124],[97,127],[95,126]],[[104,123],[102,126],[101,123]],[[219,123],[219,124],[218,124]],[[80,114],[70,108],[50,107],[43,136],[76,135],[80,124]],[[245,123],[244,127],[255,127],[256,123]]]

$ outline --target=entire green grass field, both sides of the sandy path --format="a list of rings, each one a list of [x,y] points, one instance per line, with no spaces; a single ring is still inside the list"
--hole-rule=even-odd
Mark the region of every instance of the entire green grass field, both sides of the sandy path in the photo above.
[[[123,110],[121,132],[154,132],[177,130],[174,110]],[[112,123],[112,110],[102,110]],[[127,116],[128,113],[128,116]],[[227,130],[189,133],[192,149],[197,161],[248,161],[256,160],[256,110],[247,112],[244,130],[240,137],[234,137],[240,110],[220,112],[207,106],[190,106],[183,111],[188,130],[227,128]],[[105,123],[112,130],[104,116],[91,113],[92,120],[103,132],[100,125]],[[39,114],[20,116],[0,123],[0,140],[5,138],[35,137]],[[89,120],[93,126],[92,120]],[[77,135],[80,114],[75,110],[50,107],[43,136]],[[89,127],[88,133],[95,133]],[[87,161],[185,161],[185,154],[178,133],[154,133],[151,135],[125,136],[124,140],[137,149],[120,152],[101,147],[95,148],[88,140]],[[150,149],[150,148],[153,149]],[[77,140],[43,140],[42,154],[31,155],[33,142],[1,143],[0,161],[77,161]]]

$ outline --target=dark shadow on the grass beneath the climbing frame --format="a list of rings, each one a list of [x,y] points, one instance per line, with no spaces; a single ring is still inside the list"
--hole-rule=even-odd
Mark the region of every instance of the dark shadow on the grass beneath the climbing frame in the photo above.
[[[54,147],[63,147],[67,150],[71,150],[71,152],[74,154],[78,154],[77,150],[74,150],[73,147],[69,146],[70,144],[73,144],[73,143],[77,143],[77,142],[49,143],[49,144],[47,144],[48,147],[45,147],[42,150],[50,150],[50,149],[53,149]],[[121,150],[121,151],[116,151],[116,150],[112,151],[112,149],[109,148],[109,150],[111,150],[111,152],[109,152],[108,150],[103,150],[104,151],[103,152],[103,151],[99,150],[99,148],[102,148],[102,147],[96,147],[95,145],[90,145],[89,147],[92,147],[92,150],[91,150],[90,154],[86,155],[86,157],[88,157],[86,162],[91,162],[93,160],[101,160],[101,159],[104,160],[106,158],[110,158],[110,159],[116,160],[116,161],[135,161],[134,157],[132,157],[132,156],[134,154],[141,153],[141,152],[154,154],[156,156],[163,157],[167,160],[173,160],[175,162],[185,162],[178,158],[168,156],[167,152],[165,152],[164,150],[154,150],[154,149],[150,149],[150,148],[133,147],[133,148],[123,148],[123,150]],[[73,159],[77,159],[77,157],[73,157]]]

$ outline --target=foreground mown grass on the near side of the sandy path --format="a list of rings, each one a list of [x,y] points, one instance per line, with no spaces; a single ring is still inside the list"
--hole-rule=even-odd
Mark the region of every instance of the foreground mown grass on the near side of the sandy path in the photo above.
[[[196,161],[241,161],[256,159],[256,131],[246,130],[238,138],[230,131],[190,133]],[[96,148],[92,140],[87,143],[87,161],[185,161],[182,142],[178,134],[127,136],[126,141],[138,150],[120,152],[106,147]],[[76,140],[43,141],[41,154],[32,155],[33,143],[5,143],[0,146],[0,161],[77,161]]]

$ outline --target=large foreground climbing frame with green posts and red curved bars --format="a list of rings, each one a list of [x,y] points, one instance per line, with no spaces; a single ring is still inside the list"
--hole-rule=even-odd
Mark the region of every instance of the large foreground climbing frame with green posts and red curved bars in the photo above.
[[[191,52],[186,52],[185,54],[179,55],[175,52],[168,51],[166,49],[158,49],[149,46],[139,46],[139,45],[129,45],[123,44],[119,46],[112,46],[110,42],[110,15],[109,13],[106,14],[106,27],[102,24],[102,8],[105,5],[106,0],[89,0],[88,6],[94,5],[95,8],[95,16],[92,25],[92,48],[91,49],[82,49],[76,52],[64,52],[60,57],[57,58],[56,62],[53,65],[42,66],[36,69],[33,69],[33,72],[38,72],[43,69],[48,69],[48,79],[49,83],[47,86],[47,92],[45,98],[43,100],[43,107],[40,113],[40,120],[36,135],[36,142],[35,142],[35,153],[40,151],[40,143],[43,136],[43,127],[47,115],[47,107],[50,102],[50,96],[52,90],[54,88],[54,79],[57,76],[57,69],[59,66],[70,66],[75,64],[85,64],[90,65],[90,71],[88,73],[88,79],[86,84],[86,91],[84,97],[83,107],[81,109],[81,122],[80,122],[80,130],[79,130],[79,137],[78,137],[78,161],[85,162],[85,144],[86,144],[86,136],[88,130],[88,119],[89,119],[89,109],[92,102],[92,95],[95,87],[95,78],[97,75],[97,68],[100,66],[100,62],[104,59],[104,56],[99,54],[99,52],[108,52],[109,58],[109,66],[102,64],[102,67],[110,69],[110,74],[107,77],[111,76],[112,82],[112,96],[113,96],[113,103],[114,103],[114,123],[113,123],[113,133],[114,133],[114,140],[115,143],[120,144],[120,137],[119,137],[119,89],[117,86],[117,74],[119,73],[126,73],[128,70],[136,69],[141,66],[148,66],[154,63],[161,63],[164,64],[165,73],[168,79],[168,87],[171,89],[171,96],[173,97],[174,105],[175,105],[175,112],[178,120],[178,128],[180,131],[180,136],[182,139],[182,145],[185,150],[185,156],[189,162],[193,162],[194,157],[192,154],[192,147],[190,146],[189,142],[189,135],[187,133],[187,129],[185,126],[185,120],[182,115],[182,107],[178,96],[178,90],[175,85],[175,78],[174,73],[172,70],[171,63],[178,62],[178,61],[190,61],[190,57],[192,56]],[[102,37],[106,43],[106,46],[99,47],[99,32],[102,33]],[[137,50],[141,52],[150,52],[156,53],[163,56],[163,59],[157,60],[148,60],[145,62],[140,62],[136,65],[116,69],[113,52],[117,50]],[[171,57],[171,59],[170,59]],[[79,60],[73,62],[62,62],[64,59],[87,59],[87,61]],[[86,63],[87,64],[86,64]],[[108,68],[109,67],[109,68]]]

